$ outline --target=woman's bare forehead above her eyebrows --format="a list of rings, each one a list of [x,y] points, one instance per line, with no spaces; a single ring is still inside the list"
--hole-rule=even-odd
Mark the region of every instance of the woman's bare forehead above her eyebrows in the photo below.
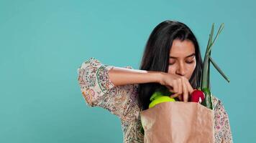
[[[170,56],[185,58],[186,56],[195,53],[195,47],[192,41],[179,39],[173,40],[173,45],[170,49]]]

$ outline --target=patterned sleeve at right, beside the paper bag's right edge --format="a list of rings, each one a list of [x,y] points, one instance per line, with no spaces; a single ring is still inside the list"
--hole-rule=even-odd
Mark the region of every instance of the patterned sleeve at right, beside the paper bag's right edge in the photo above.
[[[224,109],[224,105],[219,99],[216,107],[214,108],[214,119],[215,142],[233,142],[232,132],[229,124],[229,117],[227,111]]]

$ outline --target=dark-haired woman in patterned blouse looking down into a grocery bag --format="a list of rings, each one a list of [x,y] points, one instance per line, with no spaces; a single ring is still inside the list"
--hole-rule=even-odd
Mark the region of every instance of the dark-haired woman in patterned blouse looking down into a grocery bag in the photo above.
[[[121,119],[124,142],[143,142],[140,112],[148,108],[155,89],[168,87],[175,93],[171,97],[188,102],[201,71],[201,53],[191,29],[178,21],[163,21],[150,34],[140,70],[91,57],[78,69],[78,82],[89,106],[108,109]],[[219,99],[213,100],[215,142],[232,142],[227,112]]]

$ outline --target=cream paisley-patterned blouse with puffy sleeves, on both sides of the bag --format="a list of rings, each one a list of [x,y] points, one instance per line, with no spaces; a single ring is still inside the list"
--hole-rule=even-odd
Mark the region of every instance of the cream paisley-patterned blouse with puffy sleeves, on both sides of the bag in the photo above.
[[[138,84],[114,86],[109,80],[109,70],[114,66],[102,64],[91,57],[78,68],[78,83],[81,93],[90,107],[102,107],[121,120],[124,143],[144,142],[140,132],[140,112],[138,105]],[[132,66],[124,66],[133,69]],[[215,142],[232,142],[232,132],[228,114],[222,102],[213,96]]]

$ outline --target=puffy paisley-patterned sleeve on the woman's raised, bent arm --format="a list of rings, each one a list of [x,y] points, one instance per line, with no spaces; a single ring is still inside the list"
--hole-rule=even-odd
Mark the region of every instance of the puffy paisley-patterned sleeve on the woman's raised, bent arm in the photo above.
[[[115,86],[109,79],[114,66],[91,57],[78,68],[81,94],[89,107],[102,107],[122,120],[138,116],[137,84]],[[132,69],[132,66],[124,66]]]

